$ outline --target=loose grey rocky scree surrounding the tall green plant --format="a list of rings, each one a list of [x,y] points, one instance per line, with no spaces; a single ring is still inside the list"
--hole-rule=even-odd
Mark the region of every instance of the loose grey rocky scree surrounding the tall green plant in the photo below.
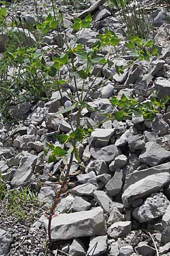
[[[92,27],[80,35],[80,43],[88,44],[96,31],[107,26],[124,38],[120,16],[105,6],[105,1],[97,3],[100,4],[92,13]],[[93,4],[96,6],[95,1]],[[152,1],[145,4],[150,7]],[[50,6],[46,2],[46,7]],[[64,3],[60,5],[63,6]],[[8,11],[12,8],[10,5]],[[15,8],[16,15],[24,14],[28,20],[35,16],[33,2],[25,1],[25,5]],[[38,5],[39,14],[43,8]],[[154,8],[155,44],[160,56],[114,76],[96,92],[91,101],[106,113],[111,110],[108,99],[112,95],[135,95],[141,102],[156,91],[159,97],[170,95],[170,24],[156,3]],[[70,23],[71,14],[66,11],[65,24],[69,27]],[[54,45],[54,35],[46,36],[44,42]],[[119,61],[126,63],[127,56]],[[112,72],[106,68],[97,79],[100,82]],[[70,132],[67,118],[58,119],[54,115],[69,100],[52,92],[49,101],[10,106],[17,124],[0,123],[2,177],[9,188],[29,185],[37,193],[37,203],[25,205],[28,213],[35,208],[33,216],[26,214],[22,221],[9,214],[1,201],[0,255],[170,255],[170,105],[153,121],[141,117],[124,122],[108,121],[79,145],[82,164],[74,159],[67,193],[62,195],[56,209],[58,216],[52,220],[52,238],[56,242],[52,250],[46,246],[48,219],[44,213],[61,186],[58,177],[63,163],[59,160],[48,164],[44,146],[46,141],[57,143],[54,134]],[[76,114],[70,114],[73,123]],[[82,123],[88,127],[100,118],[99,112],[86,110]]]

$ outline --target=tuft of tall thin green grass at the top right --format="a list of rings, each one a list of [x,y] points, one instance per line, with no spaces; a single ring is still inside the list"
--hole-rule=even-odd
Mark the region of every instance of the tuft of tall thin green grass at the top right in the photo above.
[[[109,4],[119,10],[128,35],[145,39],[153,30],[153,24],[141,1],[137,0],[133,3],[128,0],[109,0]]]

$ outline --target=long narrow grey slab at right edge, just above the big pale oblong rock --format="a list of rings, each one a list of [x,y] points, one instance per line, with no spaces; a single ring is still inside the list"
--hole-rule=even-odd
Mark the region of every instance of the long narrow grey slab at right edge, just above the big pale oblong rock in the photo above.
[[[163,174],[164,172],[170,173],[170,162],[160,164],[159,166],[147,168],[141,171],[134,171],[132,174],[126,175],[126,181],[124,185],[124,189],[128,188],[131,184],[144,179],[147,176],[152,174]]]

